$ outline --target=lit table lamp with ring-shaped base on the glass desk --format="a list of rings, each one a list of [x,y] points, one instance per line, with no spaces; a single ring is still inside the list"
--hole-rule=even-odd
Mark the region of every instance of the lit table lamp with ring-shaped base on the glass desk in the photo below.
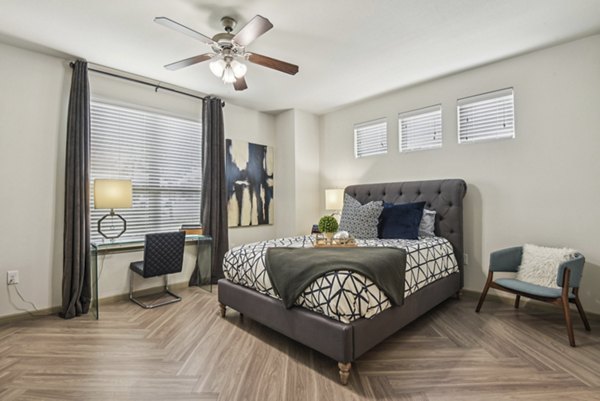
[[[127,221],[115,209],[131,207],[131,180],[94,180],[94,209],[110,209],[110,213],[98,220],[98,233],[106,239],[119,238],[127,230]],[[107,235],[102,232],[102,222],[107,217],[117,217],[123,221],[123,230],[116,235]]]

